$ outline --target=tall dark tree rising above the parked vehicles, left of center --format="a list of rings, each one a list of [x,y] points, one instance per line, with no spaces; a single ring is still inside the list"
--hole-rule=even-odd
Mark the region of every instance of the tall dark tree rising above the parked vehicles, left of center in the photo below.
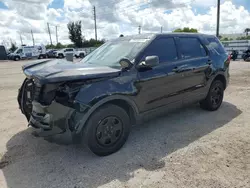
[[[69,30],[69,39],[74,43],[75,47],[81,48],[83,44],[83,36],[82,36],[82,22],[69,22],[68,23]]]

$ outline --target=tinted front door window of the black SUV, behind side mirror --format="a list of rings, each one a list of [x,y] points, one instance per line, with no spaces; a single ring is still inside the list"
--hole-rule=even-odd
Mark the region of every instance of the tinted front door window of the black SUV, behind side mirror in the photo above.
[[[158,56],[160,63],[171,62],[178,59],[176,46],[173,38],[161,38],[153,41],[144,53],[146,56]]]

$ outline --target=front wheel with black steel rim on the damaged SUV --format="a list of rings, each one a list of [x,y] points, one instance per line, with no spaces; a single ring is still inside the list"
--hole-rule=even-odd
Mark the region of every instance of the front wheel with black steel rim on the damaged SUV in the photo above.
[[[83,129],[83,141],[94,154],[107,156],[125,144],[130,129],[130,118],[126,111],[119,106],[106,104],[90,116]]]

